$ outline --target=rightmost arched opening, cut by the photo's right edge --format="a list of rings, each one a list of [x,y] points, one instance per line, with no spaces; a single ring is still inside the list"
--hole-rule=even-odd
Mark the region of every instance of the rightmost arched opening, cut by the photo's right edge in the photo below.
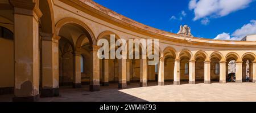
[[[255,55],[246,53],[242,56],[242,82],[253,82],[253,62]]]

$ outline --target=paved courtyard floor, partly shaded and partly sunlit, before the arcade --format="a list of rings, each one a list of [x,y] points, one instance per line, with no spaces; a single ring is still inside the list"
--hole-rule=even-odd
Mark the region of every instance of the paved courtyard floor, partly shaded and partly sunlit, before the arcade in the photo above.
[[[40,98],[46,102],[70,102],[70,101],[93,101],[93,102],[204,102],[204,101],[254,101],[256,102],[256,84],[245,82],[242,84],[182,84],[172,85],[167,82],[165,86],[157,86],[156,82],[150,82],[148,87],[139,88],[138,83],[128,85],[127,89],[117,89],[117,84],[101,86],[100,92],[89,92],[89,86],[81,89],[69,87],[60,88],[60,96],[53,98]],[[11,101],[13,95],[0,95],[0,101]]]

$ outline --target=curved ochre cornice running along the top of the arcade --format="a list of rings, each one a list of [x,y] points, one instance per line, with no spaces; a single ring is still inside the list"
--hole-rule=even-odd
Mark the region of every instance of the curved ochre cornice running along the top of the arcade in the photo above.
[[[256,48],[256,41],[228,41],[228,40],[211,40],[206,38],[197,38],[191,36],[183,36],[176,33],[162,31],[156,28],[149,27],[137,21],[131,20],[123,15],[118,14],[99,5],[91,0],[60,0],[67,5],[73,6],[86,14],[92,15],[98,19],[104,20],[108,23],[118,27],[128,29],[139,34],[143,34],[152,38],[159,38],[159,40],[166,40],[176,43],[209,46],[209,47],[251,47]]]

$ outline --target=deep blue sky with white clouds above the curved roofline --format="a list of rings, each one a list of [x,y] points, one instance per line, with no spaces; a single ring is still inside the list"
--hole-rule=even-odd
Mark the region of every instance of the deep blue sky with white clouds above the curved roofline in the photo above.
[[[177,33],[187,24],[195,37],[240,40],[256,34],[255,0],[94,0],[140,23]],[[181,19],[182,18],[182,19]]]

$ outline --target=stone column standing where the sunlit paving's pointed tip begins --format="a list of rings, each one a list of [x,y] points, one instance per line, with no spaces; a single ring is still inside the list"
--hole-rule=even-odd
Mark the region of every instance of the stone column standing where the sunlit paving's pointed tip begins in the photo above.
[[[126,81],[126,59],[119,59],[118,62],[118,88],[119,89],[124,89],[127,86],[127,81]]]

